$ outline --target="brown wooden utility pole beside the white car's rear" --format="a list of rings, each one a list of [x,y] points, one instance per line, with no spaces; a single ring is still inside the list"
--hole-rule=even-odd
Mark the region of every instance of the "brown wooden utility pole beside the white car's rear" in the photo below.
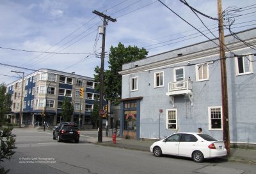
[[[221,0],[218,1],[218,19],[219,19],[219,41],[220,41],[220,66],[221,66],[221,96],[222,96],[222,117],[223,117],[223,141],[227,154],[230,156],[230,135],[228,120],[228,92],[227,92],[227,68],[225,55],[225,40],[223,33],[223,13]]]

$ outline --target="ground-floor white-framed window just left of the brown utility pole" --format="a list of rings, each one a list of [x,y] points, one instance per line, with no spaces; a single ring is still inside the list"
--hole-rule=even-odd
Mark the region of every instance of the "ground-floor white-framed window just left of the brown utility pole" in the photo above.
[[[214,106],[208,108],[209,114],[209,129],[222,130],[222,108],[221,106]]]

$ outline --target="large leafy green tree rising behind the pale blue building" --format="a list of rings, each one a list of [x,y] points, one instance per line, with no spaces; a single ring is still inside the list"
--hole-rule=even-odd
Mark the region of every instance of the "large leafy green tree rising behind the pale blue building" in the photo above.
[[[148,54],[145,48],[138,48],[136,46],[124,47],[122,43],[118,43],[118,47],[111,46],[109,53],[109,69],[104,71],[104,98],[109,101],[118,103],[122,95],[122,75],[118,74],[122,71],[122,65],[127,62],[138,61],[143,59]],[[100,68],[95,68],[94,80],[100,82]],[[96,88],[99,90],[99,86]]]

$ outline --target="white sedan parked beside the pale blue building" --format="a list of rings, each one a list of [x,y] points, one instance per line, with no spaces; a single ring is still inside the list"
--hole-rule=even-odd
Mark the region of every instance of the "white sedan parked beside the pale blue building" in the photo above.
[[[174,133],[156,141],[150,146],[154,156],[173,155],[192,157],[196,163],[206,158],[227,156],[223,141],[218,141],[204,133]]]

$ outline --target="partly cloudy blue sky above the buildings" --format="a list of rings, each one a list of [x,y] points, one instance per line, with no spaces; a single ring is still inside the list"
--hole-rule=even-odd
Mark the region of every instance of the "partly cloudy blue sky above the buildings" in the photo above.
[[[100,66],[103,24],[94,10],[116,19],[106,26],[104,69],[109,48],[119,42],[145,48],[150,56],[218,37],[217,0],[186,0],[204,14],[196,13],[198,17],[179,0],[161,0],[168,8],[156,0],[0,2],[0,83],[5,84],[20,78],[11,71],[26,76],[42,68],[93,77]],[[225,26],[234,21],[232,32],[256,27],[255,0],[222,0],[222,10]],[[225,34],[230,34],[228,29]]]

